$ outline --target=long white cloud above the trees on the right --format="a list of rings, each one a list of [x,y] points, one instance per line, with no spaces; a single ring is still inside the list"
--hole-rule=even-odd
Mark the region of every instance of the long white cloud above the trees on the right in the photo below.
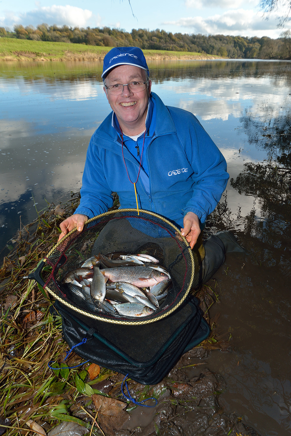
[[[201,34],[225,34],[241,36],[266,36],[278,37],[281,31],[276,30],[276,18],[271,16],[265,20],[261,14],[253,10],[228,10],[223,14],[215,14],[207,18],[185,17],[176,21],[163,24],[174,24],[180,27],[188,27],[193,33]]]

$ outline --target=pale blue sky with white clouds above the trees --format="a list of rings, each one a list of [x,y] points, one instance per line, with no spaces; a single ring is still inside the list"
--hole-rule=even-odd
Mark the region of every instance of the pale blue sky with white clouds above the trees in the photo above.
[[[268,20],[259,0],[0,0],[0,26],[47,23],[71,27],[118,27],[172,33],[277,38],[277,13]],[[133,11],[133,14],[132,14]],[[284,30],[284,29],[283,29]]]

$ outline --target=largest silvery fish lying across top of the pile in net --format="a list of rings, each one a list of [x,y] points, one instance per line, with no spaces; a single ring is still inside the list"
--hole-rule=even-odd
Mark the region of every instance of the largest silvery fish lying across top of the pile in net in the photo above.
[[[168,276],[164,272],[156,271],[145,266],[122,266],[100,270],[112,282],[127,282],[135,286],[153,286],[166,281]],[[92,285],[91,285],[92,286]]]

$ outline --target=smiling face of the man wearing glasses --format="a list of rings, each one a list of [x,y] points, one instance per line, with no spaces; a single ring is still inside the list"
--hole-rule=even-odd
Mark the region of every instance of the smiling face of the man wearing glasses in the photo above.
[[[116,83],[145,82],[145,72],[133,65],[119,65],[115,67],[106,77],[106,85]],[[103,88],[111,109],[117,116],[118,123],[125,134],[132,135],[142,132],[145,128],[145,118],[148,108],[149,92],[152,82],[149,80],[149,90],[145,88],[139,92],[132,92],[128,86],[124,86],[120,95],[112,95]],[[139,130],[139,131],[137,131]]]

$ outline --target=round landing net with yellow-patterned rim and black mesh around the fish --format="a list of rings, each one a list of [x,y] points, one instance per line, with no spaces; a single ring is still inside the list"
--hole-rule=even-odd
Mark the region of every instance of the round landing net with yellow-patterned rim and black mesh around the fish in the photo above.
[[[74,292],[61,279],[92,255],[146,253],[159,260],[172,278],[166,300],[154,313],[125,317],[112,313],[89,294]],[[45,257],[52,273],[45,288],[71,309],[95,319],[117,324],[147,324],[166,317],[185,300],[193,283],[198,261],[179,230],[166,219],[148,211],[119,209],[88,220],[82,232],[75,229]]]

